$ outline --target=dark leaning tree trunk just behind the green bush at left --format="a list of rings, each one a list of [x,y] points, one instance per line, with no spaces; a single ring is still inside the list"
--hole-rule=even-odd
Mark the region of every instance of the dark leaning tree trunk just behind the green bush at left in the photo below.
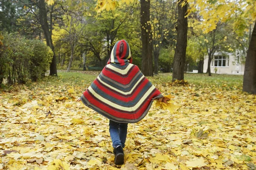
[[[47,44],[47,46],[49,46],[52,49],[52,52],[53,52],[52,62],[50,64],[50,74],[49,75],[57,76],[56,56],[55,56],[54,46],[52,44],[52,34],[49,31],[49,26],[48,26],[48,21],[47,21],[47,11],[46,11],[44,0],[38,1],[38,7],[39,7],[40,24],[44,31],[44,37],[46,40],[46,44]]]

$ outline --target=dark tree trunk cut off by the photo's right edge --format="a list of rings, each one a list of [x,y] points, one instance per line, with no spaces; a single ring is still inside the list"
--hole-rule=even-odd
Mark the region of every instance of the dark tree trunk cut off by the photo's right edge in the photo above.
[[[245,59],[243,91],[256,94],[256,23]]]

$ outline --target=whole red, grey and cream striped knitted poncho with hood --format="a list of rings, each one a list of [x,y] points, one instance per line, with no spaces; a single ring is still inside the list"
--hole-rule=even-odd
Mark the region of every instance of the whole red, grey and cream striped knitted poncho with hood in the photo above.
[[[143,119],[153,100],[163,96],[131,62],[128,43],[116,42],[107,65],[81,96],[84,105],[119,123]]]

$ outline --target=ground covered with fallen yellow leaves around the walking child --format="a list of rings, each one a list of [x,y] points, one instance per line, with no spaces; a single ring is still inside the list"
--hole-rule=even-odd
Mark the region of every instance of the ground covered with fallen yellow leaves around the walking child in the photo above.
[[[186,74],[185,86],[150,78],[177,108],[153,105],[129,124],[116,166],[108,119],[76,102],[98,73],[59,75],[0,91],[0,170],[256,169],[256,96],[241,92],[242,77]]]

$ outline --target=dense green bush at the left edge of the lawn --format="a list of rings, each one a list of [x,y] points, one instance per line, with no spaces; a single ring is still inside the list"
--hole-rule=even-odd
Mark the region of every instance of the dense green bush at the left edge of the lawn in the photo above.
[[[36,81],[47,71],[52,51],[43,42],[7,32],[0,32],[0,40],[0,84]]]

